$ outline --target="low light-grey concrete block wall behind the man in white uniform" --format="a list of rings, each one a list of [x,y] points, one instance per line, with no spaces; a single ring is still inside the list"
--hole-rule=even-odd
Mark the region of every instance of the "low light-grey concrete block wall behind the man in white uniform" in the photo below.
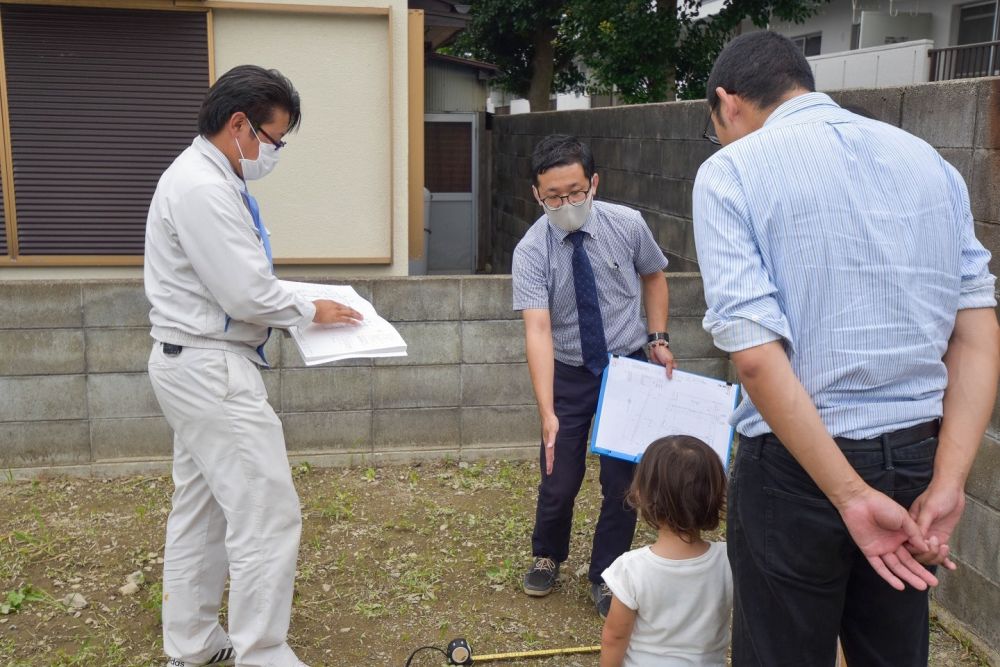
[[[697,274],[671,276],[671,332],[685,367],[728,361],[700,327]],[[530,457],[538,416],[509,276],[351,282],[399,329],[409,356],[306,368],[276,334],[263,372],[295,460],[337,465]],[[171,433],[146,376],[140,281],[0,283],[0,470],[166,470]]]

